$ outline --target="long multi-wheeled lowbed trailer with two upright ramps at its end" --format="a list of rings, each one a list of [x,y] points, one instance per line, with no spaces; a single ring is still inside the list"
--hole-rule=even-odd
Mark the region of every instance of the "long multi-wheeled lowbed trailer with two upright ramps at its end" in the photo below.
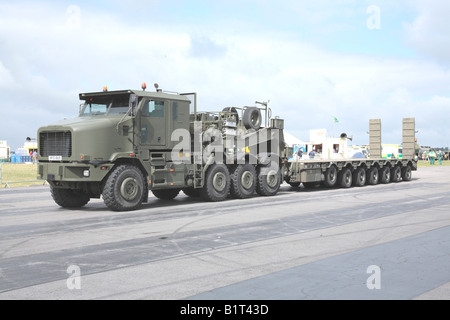
[[[370,158],[333,160],[291,160],[284,166],[284,180],[292,187],[375,185],[410,181],[417,170],[415,156],[415,119],[403,119],[403,157],[381,157],[381,120],[369,121]]]

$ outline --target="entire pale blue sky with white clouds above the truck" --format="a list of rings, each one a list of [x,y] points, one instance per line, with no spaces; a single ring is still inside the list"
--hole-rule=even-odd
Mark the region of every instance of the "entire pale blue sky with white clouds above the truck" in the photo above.
[[[197,92],[201,110],[268,101],[286,130],[450,146],[450,2],[0,0],[0,140],[75,117],[78,93]],[[333,117],[339,122],[334,123]]]

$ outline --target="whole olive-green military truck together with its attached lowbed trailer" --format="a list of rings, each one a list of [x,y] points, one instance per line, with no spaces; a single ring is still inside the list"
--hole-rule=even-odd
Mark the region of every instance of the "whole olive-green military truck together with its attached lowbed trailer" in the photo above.
[[[411,180],[414,119],[404,119],[404,156],[381,158],[381,122],[370,123],[371,158],[288,160],[284,120],[267,102],[198,111],[196,93],[142,90],[81,93],[79,116],[38,130],[38,178],[64,208],[103,198],[114,211],[138,209],[181,191],[206,201],[274,196],[292,187],[350,187]],[[371,120],[372,121],[372,120]],[[405,154],[406,152],[406,154]]]

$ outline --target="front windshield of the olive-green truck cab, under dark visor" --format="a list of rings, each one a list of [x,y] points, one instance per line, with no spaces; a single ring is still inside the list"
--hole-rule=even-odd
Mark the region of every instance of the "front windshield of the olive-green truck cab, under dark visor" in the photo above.
[[[80,117],[124,115],[129,109],[129,95],[87,98]]]

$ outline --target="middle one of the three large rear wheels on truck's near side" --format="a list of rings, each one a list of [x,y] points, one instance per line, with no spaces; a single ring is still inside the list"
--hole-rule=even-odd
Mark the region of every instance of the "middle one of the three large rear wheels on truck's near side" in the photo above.
[[[256,189],[256,170],[251,164],[235,167],[231,173],[231,196],[236,199],[250,198]]]

